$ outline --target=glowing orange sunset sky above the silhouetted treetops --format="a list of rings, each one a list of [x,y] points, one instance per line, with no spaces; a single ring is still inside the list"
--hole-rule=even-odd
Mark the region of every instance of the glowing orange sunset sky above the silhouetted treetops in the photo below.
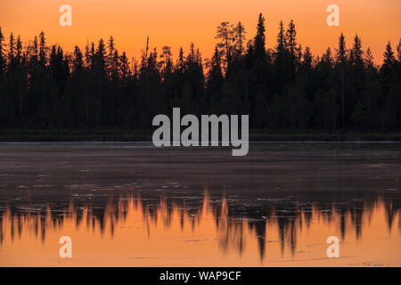
[[[59,25],[61,4],[72,7],[72,27]],[[326,24],[329,4],[340,7],[340,27]],[[250,38],[258,12],[266,17],[267,47],[274,46],[279,21],[287,26],[290,19],[295,20],[299,42],[313,53],[336,46],[341,31],[350,45],[357,32],[379,62],[387,41],[395,50],[401,37],[400,0],[0,0],[0,27],[5,37],[12,31],[23,41],[44,30],[48,44],[59,43],[68,51],[75,44],[83,48],[87,40],[113,35],[119,51],[129,57],[140,55],[147,36],[159,51],[172,46],[174,56],[181,45],[186,51],[194,42],[207,58],[221,21],[241,20]]]

